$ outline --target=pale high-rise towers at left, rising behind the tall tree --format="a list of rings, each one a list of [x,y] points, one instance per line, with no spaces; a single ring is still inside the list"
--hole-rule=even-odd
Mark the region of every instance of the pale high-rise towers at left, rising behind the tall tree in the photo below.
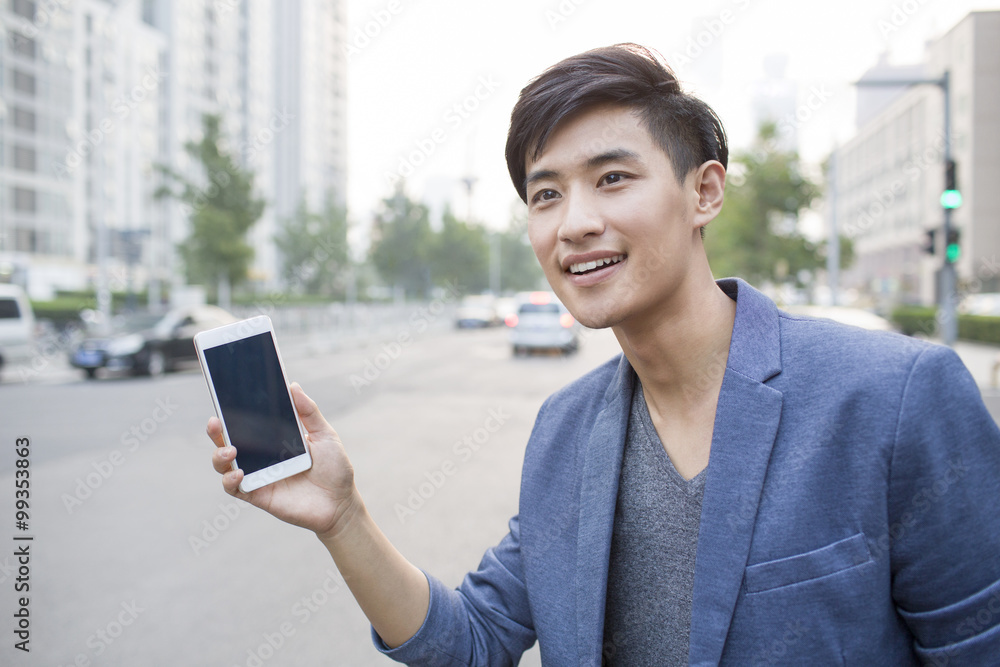
[[[251,279],[277,286],[280,221],[345,198],[342,4],[2,0],[0,280],[183,284],[189,212],[155,197],[158,169],[210,187],[185,145],[211,113],[268,204]]]

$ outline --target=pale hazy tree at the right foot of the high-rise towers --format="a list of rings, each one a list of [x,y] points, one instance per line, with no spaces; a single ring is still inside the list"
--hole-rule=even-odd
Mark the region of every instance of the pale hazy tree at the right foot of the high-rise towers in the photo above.
[[[274,237],[281,252],[282,277],[292,291],[343,297],[347,287],[347,211],[332,198],[322,213],[309,210],[305,198],[295,215],[282,221]]]

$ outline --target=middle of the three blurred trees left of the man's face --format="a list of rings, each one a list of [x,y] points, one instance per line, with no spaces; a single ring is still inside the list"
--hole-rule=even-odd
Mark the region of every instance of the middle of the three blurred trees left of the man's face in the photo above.
[[[435,285],[452,284],[475,294],[489,287],[490,248],[486,230],[457,219],[446,209],[441,231],[436,233],[428,255]]]

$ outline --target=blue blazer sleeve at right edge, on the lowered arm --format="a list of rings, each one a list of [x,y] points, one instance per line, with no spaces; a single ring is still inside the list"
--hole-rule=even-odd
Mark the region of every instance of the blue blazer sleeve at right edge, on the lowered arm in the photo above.
[[[924,664],[1000,655],[1000,430],[958,356],[913,363],[889,482],[892,592]]]

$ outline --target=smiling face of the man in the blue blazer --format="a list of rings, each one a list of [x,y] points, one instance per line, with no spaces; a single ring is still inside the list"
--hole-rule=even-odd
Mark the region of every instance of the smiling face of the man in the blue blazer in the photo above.
[[[695,220],[695,173],[679,184],[634,112],[571,116],[526,166],[532,248],[582,324],[655,322],[678,308],[707,220]]]

